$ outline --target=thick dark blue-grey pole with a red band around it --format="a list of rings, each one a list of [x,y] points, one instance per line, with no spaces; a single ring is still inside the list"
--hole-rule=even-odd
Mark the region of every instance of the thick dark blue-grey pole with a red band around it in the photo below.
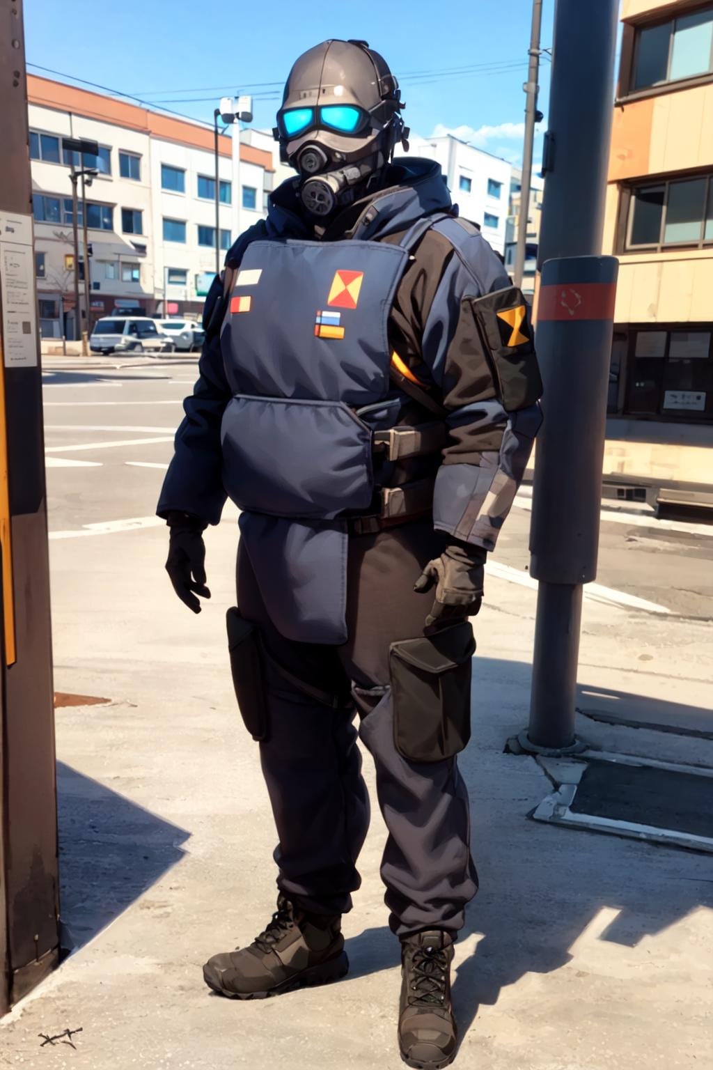
[[[557,0],[537,346],[530,575],[539,580],[530,720],[521,749],[572,753],[583,584],[596,576],[618,261],[600,256],[619,0]]]

